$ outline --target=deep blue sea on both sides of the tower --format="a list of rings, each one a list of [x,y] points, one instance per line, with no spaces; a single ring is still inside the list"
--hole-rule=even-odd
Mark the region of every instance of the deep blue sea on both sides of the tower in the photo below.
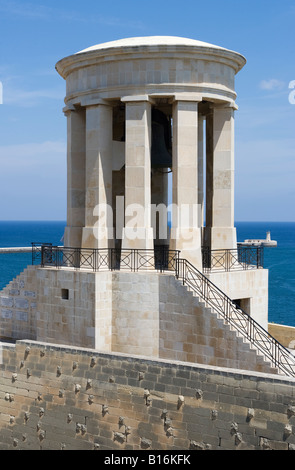
[[[31,246],[32,242],[61,245],[64,221],[0,221],[0,247]],[[269,270],[269,322],[295,327],[295,222],[236,222],[239,242],[266,238],[277,247],[264,248]],[[27,265],[31,253],[0,253],[0,291]]]

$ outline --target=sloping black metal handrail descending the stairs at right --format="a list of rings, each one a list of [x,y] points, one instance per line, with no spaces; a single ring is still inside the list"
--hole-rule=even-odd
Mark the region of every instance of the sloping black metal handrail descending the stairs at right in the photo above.
[[[186,259],[178,259],[177,278],[195,292],[205,305],[234,326],[254,347],[268,358],[273,367],[295,377],[295,357],[248,313],[238,307],[212,281]]]

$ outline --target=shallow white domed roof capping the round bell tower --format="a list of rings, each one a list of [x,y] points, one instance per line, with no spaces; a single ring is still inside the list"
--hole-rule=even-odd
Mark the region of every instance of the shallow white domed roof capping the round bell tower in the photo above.
[[[82,51],[77,52],[77,54],[99,51],[102,49],[118,48],[118,47],[139,47],[139,46],[195,46],[195,47],[206,47],[206,48],[215,48],[220,50],[228,50],[223,47],[215,46],[214,44],[209,44],[207,42],[197,41],[196,39],[182,38],[178,36],[144,36],[144,37],[134,37],[119,39],[117,41],[104,42],[102,44],[97,44]]]

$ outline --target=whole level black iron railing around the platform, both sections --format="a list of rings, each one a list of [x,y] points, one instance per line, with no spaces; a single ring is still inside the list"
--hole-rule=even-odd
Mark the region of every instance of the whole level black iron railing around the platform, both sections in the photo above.
[[[42,251],[43,250],[43,251]],[[132,269],[155,267],[172,269],[175,250],[166,245],[156,246],[154,250],[121,250],[64,248],[52,243],[32,243],[32,264],[56,267],[71,266],[88,268],[93,271],[106,269]],[[251,270],[263,268],[263,247],[238,246],[235,250],[211,250],[202,247],[203,272],[209,273]]]

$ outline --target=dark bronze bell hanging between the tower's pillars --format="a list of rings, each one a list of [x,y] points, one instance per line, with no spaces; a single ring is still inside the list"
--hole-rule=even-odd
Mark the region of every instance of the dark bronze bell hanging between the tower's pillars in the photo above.
[[[169,121],[164,113],[153,110],[152,113],[152,168],[171,168],[172,155],[169,152]]]

